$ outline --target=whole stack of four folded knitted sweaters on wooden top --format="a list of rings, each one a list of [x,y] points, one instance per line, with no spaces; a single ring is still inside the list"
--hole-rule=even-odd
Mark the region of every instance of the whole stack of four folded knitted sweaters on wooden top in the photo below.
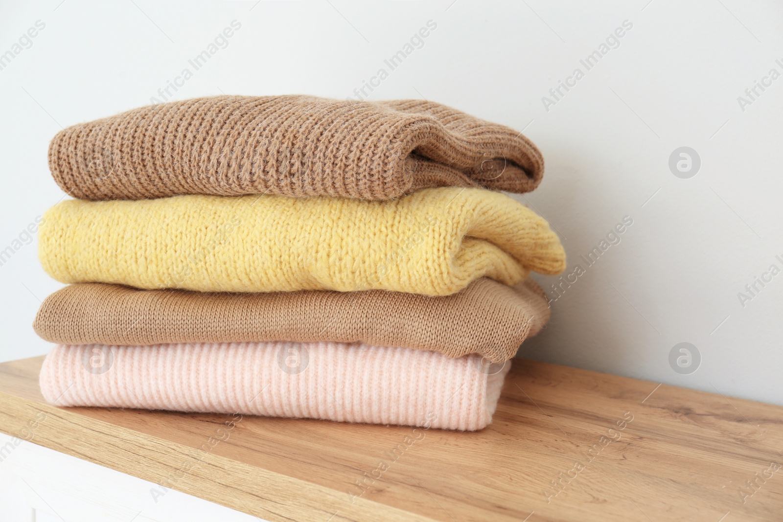
[[[479,430],[565,254],[543,160],[437,103],[219,96],[61,131],[34,328],[57,405]]]

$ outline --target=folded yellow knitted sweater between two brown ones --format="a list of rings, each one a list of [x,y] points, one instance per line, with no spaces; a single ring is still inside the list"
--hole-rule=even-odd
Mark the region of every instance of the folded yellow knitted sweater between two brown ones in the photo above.
[[[501,193],[446,187],[398,200],[175,196],[67,200],[39,257],[62,283],[201,291],[396,290],[447,295],[486,275],[556,274],[547,221]]]

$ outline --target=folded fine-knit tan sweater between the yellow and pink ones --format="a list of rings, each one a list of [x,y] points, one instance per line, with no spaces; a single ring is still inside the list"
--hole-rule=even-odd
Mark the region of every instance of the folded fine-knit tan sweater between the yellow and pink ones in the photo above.
[[[60,344],[361,341],[514,357],[549,319],[547,297],[528,279],[505,286],[477,279],[447,297],[363,292],[201,293],[81,283],[52,293],[34,329]]]

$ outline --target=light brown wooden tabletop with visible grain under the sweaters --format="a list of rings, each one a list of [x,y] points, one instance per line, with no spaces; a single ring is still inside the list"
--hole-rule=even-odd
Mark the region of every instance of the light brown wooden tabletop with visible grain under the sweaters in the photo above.
[[[758,402],[518,360],[490,427],[414,431],[57,408],[42,359],[0,365],[0,430],[274,522],[783,520]]]

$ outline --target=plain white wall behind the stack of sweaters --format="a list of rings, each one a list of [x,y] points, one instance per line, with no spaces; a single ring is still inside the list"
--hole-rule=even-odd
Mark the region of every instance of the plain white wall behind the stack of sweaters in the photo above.
[[[0,9],[0,52],[45,23],[0,70],[0,250],[20,246],[0,267],[0,358],[49,348],[30,325],[60,285],[34,244],[13,239],[63,197],[46,164],[61,126],[150,103],[233,20],[240,30],[175,99],[345,98],[433,20],[424,45],[366,92],[437,100],[525,129],[543,150],[543,184],[519,199],[561,234],[568,272],[581,264],[584,273],[521,355],[783,404],[783,275],[756,283],[744,307],[738,298],[770,265],[783,268],[783,78],[757,88],[744,110],[738,103],[770,69],[783,73],[779,3],[54,0]],[[579,60],[625,20],[633,27],[619,47],[586,70]],[[545,108],[543,96],[577,67],[584,77]],[[669,170],[681,146],[701,158],[695,177]],[[621,242],[586,267],[579,256],[625,216],[633,225]],[[701,354],[695,373],[669,365],[680,342]]]

